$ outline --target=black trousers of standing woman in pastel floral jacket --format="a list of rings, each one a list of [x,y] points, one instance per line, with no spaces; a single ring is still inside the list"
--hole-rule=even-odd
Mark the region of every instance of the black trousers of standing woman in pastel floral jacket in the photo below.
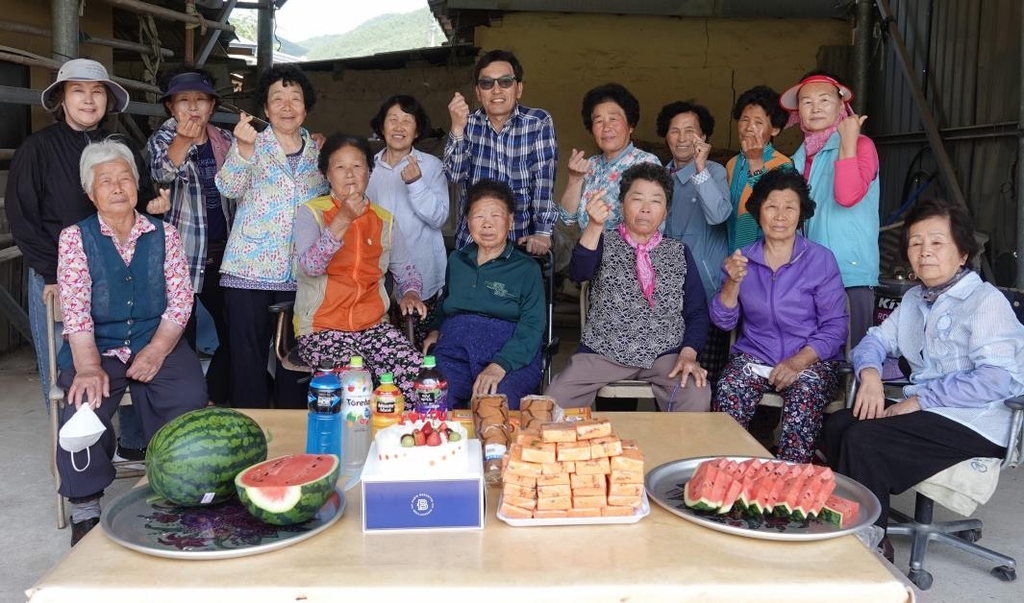
[[[224,288],[231,349],[228,383],[236,408],[306,407],[306,388],[298,383],[302,373],[286,371],[275,359],[272,388],[268,384],[266,368],[275,327],[269,307],[285,301],[295,301],[295,292]]]

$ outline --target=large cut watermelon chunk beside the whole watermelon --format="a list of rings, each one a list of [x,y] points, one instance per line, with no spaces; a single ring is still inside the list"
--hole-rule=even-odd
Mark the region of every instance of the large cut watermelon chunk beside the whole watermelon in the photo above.
[[[273,525],[312,519],[334,493],[339,460],[335,455],[289,455],[239,473],[234,486],[254,517]]]

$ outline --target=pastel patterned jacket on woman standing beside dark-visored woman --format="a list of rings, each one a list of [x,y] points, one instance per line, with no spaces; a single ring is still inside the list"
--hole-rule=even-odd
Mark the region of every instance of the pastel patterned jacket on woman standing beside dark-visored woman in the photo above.
[[[220,271],[261,283],[294,283],[292,272],[296,208],[326,195],[327,180],[316,167],[319,150],[302,128],[305,145],[292,173],[273,129],[256,136],[256,149],[246,161],[234,142],[217,172],[217,189],[238,199],[234,225]]]

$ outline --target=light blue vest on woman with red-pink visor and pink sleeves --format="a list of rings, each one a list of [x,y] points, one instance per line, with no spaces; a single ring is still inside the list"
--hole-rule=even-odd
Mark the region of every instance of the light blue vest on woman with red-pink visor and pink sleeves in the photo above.
[[[844,287],[874,287],[879,284],[879,175],[864,198],[853,207],[836,203],[836,162],[839,161],[839,132],[829,136],[814,156],[811,174],[804,174],[806,155],[801,144],[793,155],[793,166],[811,186],[817,206],[807,220],[807,238],[836,256]]]

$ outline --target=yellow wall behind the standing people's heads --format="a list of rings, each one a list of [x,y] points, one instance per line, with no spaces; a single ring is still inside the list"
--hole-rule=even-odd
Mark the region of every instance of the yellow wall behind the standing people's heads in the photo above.
[[[481,49],[510,49],[523,63],[521,101],[554,117],[561,174],[567,149],[597,150],[580,116],[583,95],[594,86],[618,82],[640,99],[635,139],[664,142],[655,135],[658,110],[693,98],[715,116],[712,144],[738,148],[730,117],[736,96],[758,84],[781,92],[815,68],[819,47],[850,44],[851,30],[826,19],[521,12],[478,27],[475,38]],[[779,143],[792,150],[799,140],[799,133],[787,133]]]

